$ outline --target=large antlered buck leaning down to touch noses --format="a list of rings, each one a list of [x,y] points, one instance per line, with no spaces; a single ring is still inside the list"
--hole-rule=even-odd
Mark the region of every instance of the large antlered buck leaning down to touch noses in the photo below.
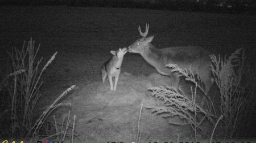
[[[142,38],[136,40],[128,47],[129,53],[141,54],[144,60],[149,63],[160,75],[171,77],[172,85],[179,89],[179,73],[172,72],[167,64],[176,64],[181,69],[191,69],[192,73],[199,76],[205,84],[205,96],[207,96],[213,85],[213,77],[210,71],[209,53],[197,46],[175,46],[158,49],[151,44],[154,36],[147,37],[149,24],[146,24],[146,31],[142,33],[139,26],[138,31]],[[204,106],[203,97],[201,105]]]

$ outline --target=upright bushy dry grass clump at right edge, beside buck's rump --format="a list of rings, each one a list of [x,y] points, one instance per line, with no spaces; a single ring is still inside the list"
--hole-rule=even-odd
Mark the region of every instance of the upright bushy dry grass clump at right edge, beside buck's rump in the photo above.
[[[210,55],[210,59],[211,70],[220,89],[220,111],[223,115],[221,138],[233,138],[238,121],[248,118],[242,113],[250,112],[255,107],[255,103],[251,102],[251,99],[256,99],[253,69],[243,49],[236,50],[228,58]]]

